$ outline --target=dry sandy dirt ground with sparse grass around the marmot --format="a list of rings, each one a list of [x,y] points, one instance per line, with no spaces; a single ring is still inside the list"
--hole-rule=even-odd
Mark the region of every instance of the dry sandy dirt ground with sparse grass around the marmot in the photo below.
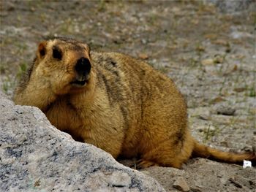
[[[255,147],[255,1],[0,1],[1,88],[15,84],[47,37],[127,53],[172,78],[186,96],[200,142],[226,151]],[[193,159],[150,168],[167,191],[255,191],[255,168]]]

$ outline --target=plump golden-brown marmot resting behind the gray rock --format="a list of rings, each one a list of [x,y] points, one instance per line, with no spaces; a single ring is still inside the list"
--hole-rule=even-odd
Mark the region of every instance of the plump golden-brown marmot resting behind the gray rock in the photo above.
[[[225,153],[192,138],[187,104],[169,77],[128,55],[93,52],[75,39],[39,44],[14,101],[39,107],[56,128],[114,158],[138,157],[140,169],[180,168],[192,156],[256,160],[253,153]]]

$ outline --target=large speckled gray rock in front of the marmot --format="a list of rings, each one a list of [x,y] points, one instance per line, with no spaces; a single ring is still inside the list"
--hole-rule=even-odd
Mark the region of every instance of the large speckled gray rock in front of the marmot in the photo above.
[[[75,142],[36,107],[0,92],[0,191],[164,191],[151,177]]]

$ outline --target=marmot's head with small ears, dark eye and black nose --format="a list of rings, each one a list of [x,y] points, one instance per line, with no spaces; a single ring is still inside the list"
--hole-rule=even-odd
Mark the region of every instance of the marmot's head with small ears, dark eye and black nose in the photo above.
[[[41,42],[33,70],[50,83],[56,94],[84,91],[93,76],[90,48],[83,42],[66,38]]]

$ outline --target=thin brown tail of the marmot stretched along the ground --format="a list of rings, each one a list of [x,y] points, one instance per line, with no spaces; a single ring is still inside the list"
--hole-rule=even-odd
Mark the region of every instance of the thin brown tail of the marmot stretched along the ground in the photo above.
[[[193,157],[208,158],[214,161],[222,161],[231,164],[243,164],[244,160],[252,161],[252,165],[256,165],[256,155],[254,153],[227,153],[216,150],[206,145],[201,145],[195,141],[195,147],[192,152]]]

